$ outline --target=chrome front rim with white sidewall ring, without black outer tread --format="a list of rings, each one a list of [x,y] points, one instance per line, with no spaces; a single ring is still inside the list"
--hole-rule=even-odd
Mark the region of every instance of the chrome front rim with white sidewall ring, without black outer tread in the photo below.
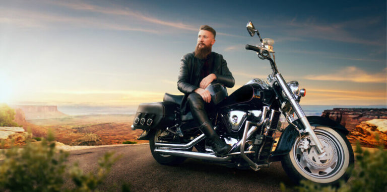
[[[318,154],[315,146],[301,151],[300,138],[297,138],[293,145],[293,157],[297,166],[307,175],[324,179],[336,175],[344,165],[344,149],[339,140],[330,132],[321,129],[315,129],[314,132],[326,150],[325,154]],[[301,139],[304,139],[303,136]],[[310,142],[310,140],[308,140]]]

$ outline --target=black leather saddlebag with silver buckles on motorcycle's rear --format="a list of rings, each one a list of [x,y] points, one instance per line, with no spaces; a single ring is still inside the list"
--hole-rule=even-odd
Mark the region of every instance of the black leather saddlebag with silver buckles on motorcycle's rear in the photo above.
[[[140,104],[133,126],[136,129],[166,129],[175,123],[175,111],[179,106],[173,102]]]

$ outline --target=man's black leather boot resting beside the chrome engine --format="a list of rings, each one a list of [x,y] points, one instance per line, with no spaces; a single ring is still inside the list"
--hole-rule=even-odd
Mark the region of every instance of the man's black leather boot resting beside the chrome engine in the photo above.
[[[201,131],[208,138],[208,142],[212,146],[212,149],[215,151],[216,155],[225,155],[231,150],[231,146],[220,139],[218,134],[216,134],[214,128],[211,125],[211,122],[204,122],[201,126]]]

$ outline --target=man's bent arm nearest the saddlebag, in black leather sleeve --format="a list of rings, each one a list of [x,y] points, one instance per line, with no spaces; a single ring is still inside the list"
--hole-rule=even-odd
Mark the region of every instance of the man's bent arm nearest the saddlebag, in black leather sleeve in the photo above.
[[[194,86],[189,81],[189,71],[188,71],[188,64],[186,57],[181,57],[180,60],[180,69],[179,69],[179,76],[177,77],[177,88],[186,94],[189,94],[193,92],[195,89],[199,88],[197,86]]]

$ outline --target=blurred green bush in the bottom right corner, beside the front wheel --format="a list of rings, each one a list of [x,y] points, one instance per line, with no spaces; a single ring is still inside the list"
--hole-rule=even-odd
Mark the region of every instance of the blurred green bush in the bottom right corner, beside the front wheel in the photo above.
[[[378,136],[376,136],[378,141]],[[334,192],[368,192],[387,191],[387,151],[383,145],[378,150],[370,153],[363,150],[360,143],[356,145],[355,169],[348,169],[352,172],[352,178],[347,182],[341,182],[340,186],[321,186],[311,181],[301,181],[301,186],[296,188],[301,191],[334,191]],[[285,185],[281,183],[282,191],[286,191]]]

